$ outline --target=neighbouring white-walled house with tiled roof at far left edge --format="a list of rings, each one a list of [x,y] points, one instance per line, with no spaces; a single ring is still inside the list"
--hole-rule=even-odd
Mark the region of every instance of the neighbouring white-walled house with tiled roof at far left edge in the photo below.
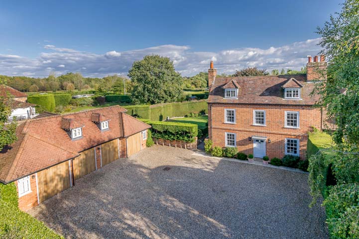
[[[0,85],[0,96],[6,97],[10,95],[11,115],[8,117],[8,123],[11,123],[14,119],[21,121],[25,119],[32,119],[37,116],[35,111],[35,105],[27,103],[27,94],[11,88],[7,85]]]

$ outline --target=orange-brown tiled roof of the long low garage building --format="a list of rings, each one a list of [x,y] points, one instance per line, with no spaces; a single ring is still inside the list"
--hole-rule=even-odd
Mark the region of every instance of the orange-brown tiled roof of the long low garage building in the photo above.
[[[16,129],[18,140],[0,153],[0,181],[8,183],[77,157],[79,152],[120,138],[123,131],[127,137],[150,128],[149,125],[125,114],[125,111],[124,108],[116,105],[27,120]],[[101,113],[109,117],[110,129],[101,132],[92,122],[92,113]],[[61,128],[64,118],[81,122],[84,126],[81,139],[72,140],[67,131]],[[120,122],[123,122],[123,125]]]

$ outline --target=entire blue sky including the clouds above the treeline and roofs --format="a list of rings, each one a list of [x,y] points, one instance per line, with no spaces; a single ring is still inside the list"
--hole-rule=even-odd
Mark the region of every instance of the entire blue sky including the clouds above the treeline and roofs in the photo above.
[[[0,75],[124,75],[146,54],[171,57],[187,76],[206,71],[211,59],[227,73],[253,65],[298,69],[320,50],[314,31],[341,2],[2,1]]]

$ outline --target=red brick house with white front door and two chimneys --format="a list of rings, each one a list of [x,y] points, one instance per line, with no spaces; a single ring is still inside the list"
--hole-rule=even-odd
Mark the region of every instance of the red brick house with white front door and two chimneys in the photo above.
[[[313,107],[314,81],[322,79],[324,56],[308,56],[307,74],[257,77],[216,77],[208,70],[209,139],[214,146],[237,147],[255,158],[306,159],[308,132],[323,129],[323,113]],[[323,71],[322,71],[323,72]]]

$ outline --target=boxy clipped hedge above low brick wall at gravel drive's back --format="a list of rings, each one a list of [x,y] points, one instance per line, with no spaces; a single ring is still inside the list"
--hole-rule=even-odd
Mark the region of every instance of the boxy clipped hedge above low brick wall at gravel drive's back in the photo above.
[[[181,140],[192,143],[198,135],[198,126],[196,124],[152,120],[142,121],[152,126],[150,130],[153,138]]]

